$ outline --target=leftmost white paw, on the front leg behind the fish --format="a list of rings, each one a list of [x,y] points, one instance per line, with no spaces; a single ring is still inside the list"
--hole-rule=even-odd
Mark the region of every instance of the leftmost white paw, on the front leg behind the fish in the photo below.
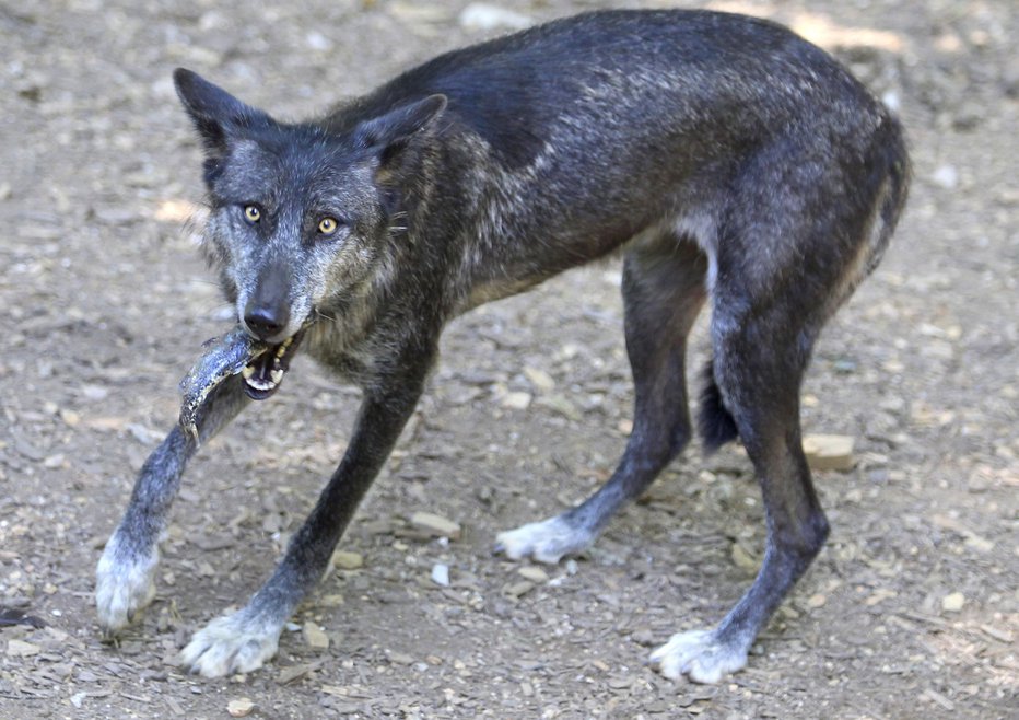
[[[155,597],[159,548],[131,553],[120,537],[118,532],[110,536],[95,568],[95,609],[107,635],[125,628]]]

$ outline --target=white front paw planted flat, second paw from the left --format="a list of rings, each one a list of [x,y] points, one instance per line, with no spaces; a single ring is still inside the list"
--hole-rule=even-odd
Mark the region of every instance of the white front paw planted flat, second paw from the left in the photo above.
[[[206,677],[258,670],[276,654],[282,626],[248,619],[244,611],[219,617],[195,634],[180,664]]]

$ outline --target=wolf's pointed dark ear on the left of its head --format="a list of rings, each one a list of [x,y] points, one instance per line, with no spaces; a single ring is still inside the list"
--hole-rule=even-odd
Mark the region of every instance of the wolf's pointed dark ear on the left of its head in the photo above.
[[[262,111],[245,105],[198,73],[177,68],[174,85],[210,155],[222,155],[232,131],[269,123]]]

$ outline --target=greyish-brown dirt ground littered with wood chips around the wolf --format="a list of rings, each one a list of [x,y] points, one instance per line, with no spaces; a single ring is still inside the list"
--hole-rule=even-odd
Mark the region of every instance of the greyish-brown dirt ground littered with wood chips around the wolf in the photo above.
[[[99,641],[103,542],[177,381],[231,322],[185,223],[200,152],[171,70],[301,117],[504,32],[462,22],[466,4],[0,2],[0,612],[45,622],[0,630],[0,717],[223,718],[243,698],[255,718],[1016,717],[1014,0],[715,5],[832,49],[900,108],[916,170],[885,263],[804,388],[806,431],[856,442],[852,471],[817,473],[831,541],[748,670],[700,686],[645,664],[752,578],[762,513],[737,449],[691,448],[576,561],[491,554],[497,531],[590,492],[623,448],[614,264],[450,328],[341,545],[360,567],[327,576],[273,663],[209,681],[173,661],[258,588],[343,450],[358,395],[306,360],[192,463],[155,604],[120,647]],[[540,21],[602,3],[500,7]],[[430,536],[418,511],[461,535]]]

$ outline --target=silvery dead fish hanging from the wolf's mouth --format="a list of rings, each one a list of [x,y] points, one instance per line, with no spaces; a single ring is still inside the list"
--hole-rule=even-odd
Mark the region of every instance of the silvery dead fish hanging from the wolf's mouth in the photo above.
[[[239,324],[220,337],[202,344],[206,353],[180,381],[180,428],[198,443],[198,411],[220,383],[236,375],[265,353],[270,346],[256,340]]]

